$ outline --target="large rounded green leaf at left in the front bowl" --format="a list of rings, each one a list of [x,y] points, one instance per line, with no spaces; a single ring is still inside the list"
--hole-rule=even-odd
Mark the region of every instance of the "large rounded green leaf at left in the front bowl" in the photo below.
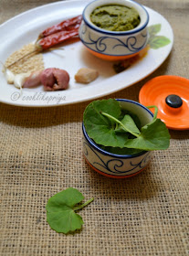
[[[96,144],[105,146],[123,147],[127,141],[127,133],[116,133],[116,123],[101,114],[106,112],[110,116],[118,119],[121,115],[119,101],[109,99],[102,101],[92,101],[86,108],[83,116],[84,125],[89,137]]]

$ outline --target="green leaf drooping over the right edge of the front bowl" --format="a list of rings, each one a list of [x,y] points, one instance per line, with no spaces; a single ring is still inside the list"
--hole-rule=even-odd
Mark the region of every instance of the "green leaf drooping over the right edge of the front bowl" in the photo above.
[[[170,143],[170,134],[165,124],[156,119],[142,127],[142,133],[136,139],[129,139],[125,146],[146,151],[167,149]]]

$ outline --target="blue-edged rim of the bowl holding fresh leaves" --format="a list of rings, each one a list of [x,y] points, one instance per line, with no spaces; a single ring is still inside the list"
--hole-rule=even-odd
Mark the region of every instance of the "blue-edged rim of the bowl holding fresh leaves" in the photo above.
[[[131,100],[127,100],[127,99],[115,99],[115,100],[116,101],[126,101],[126,102],[134,103],[134,104],[142,107],[145,111],[149,112],[152,115],[152,117],[153,117],[153,113],[148,108],[146,108],[145,106],[143,106],[141,103],[139,103],[137,101],[131,101]],[[134,158],[134,157],[138,157],[138,156],[141,156],[141,155],[145,155],[146,153],[149,152],[149,151],[143,150],[142,152],[139,152],[139,153],[136,153],[136,154],[132,154],[132,155],[117,155],[117,154],[113,154],[113,153],[110,153],[108,151],[105,151],[105,150],[101,149],[97,144],[95,144],[93,142],[92,139],[89,138],[89,135],[86,132],[85,125],[84,125],[83,122],[82,122],[82,131],[83,131],[83,134],[84,134],[86,140],[89,142],[89,144],[93,148],[95,148],[97,151],[99,151],[102,155],[109,155],[109,156],[116,157],[116,158],[129,159],[129,158]]]

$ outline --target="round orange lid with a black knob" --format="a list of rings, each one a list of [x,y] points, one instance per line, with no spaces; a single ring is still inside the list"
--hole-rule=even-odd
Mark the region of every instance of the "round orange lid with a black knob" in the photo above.
[[[157,106],[157,117],[167,128],[189,129],[189,80],[177,76],[156,77],[144,84],[139,101],[144,106]]]

